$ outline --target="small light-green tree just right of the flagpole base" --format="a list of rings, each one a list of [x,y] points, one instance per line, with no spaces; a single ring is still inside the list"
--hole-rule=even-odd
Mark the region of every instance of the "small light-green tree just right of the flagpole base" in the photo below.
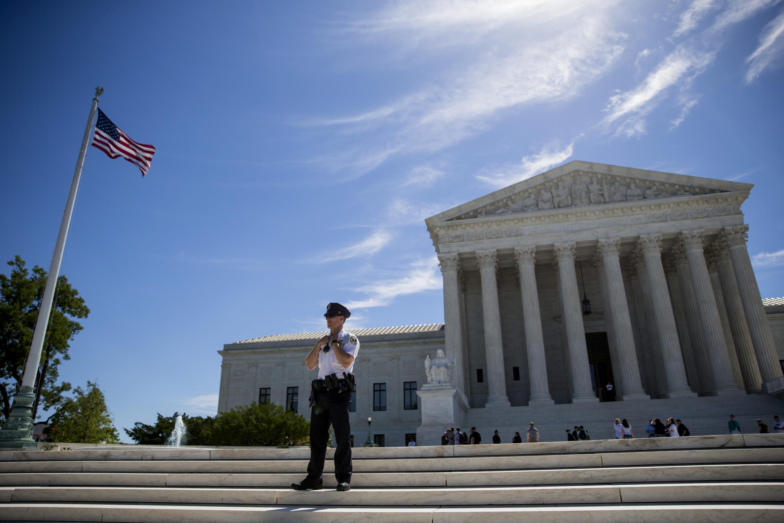
[[[74,398],[52,416],[47,433],[52,441],[68,443],[119,443],[106,397],[96,383],[87,382],[87,390],[74,389]]]

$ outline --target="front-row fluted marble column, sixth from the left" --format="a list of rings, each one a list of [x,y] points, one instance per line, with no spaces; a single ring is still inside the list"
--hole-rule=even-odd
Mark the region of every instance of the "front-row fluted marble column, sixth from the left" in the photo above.
[[[641,234],[637,240],[645,258],[645,273],[653,303],[653,317],[656,325],[656,336],[659,338],[659,350],[662,354],[666,398],[695,396],[686,380],[686,369],[681,356],[681,345],[678,343],[677,325],[673,316],[670,296],[667,295],[667,280],[662,267],[662,235]]]

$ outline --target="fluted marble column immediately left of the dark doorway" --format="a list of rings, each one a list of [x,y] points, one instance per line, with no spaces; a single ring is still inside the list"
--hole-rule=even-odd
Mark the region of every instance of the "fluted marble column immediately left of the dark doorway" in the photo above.
[[[583,311],[580,307],[580,294],[577,289],[575,273],[574,242],[553,245],[554,256],[558,261],[558,278],[561,288],[564,325],[569,351],[569,366],[572,373],[572,403],[599,401],[590,387],[590,366],[588,365],[588,346],[583,326]]]

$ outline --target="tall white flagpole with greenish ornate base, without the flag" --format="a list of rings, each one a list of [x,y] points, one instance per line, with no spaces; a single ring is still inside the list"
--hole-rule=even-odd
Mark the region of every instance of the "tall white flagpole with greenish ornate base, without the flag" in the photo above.
[[[57,286],[57,278],[60,276],[60,263],[63,261],[68,227],[71,226],[71,215],[74,212],[76,191],[79,188],[79,179],[82,177],[82,167],[85,165],[85,156],[87,155],[87,147],[89,147],[91,137],[90,131],[93,129],[93,119],[95,119],[96,108],[98,107],[98,96],[101,94],[103,94],[103,87],[96,87],[96,96],[93,98],[93,105],[90,107],[90,114],[87,118],[85,136],[82,138],[82,148],[79,149],[79,156],[76,160],[74,179],[71,180],[71,191],[68,192],[63,220],[60,222],[60,233],[57,234],[52,264],[49,267],[49,275],[46,277],[44,296],[41,300],[41,308],[38,311],[38,320],[35,322],[33,342],[24,366],[22,386],[13,398],[11,414],[5,420],[2,430],[0,430],[0,448],[35,448],[38,446],[32,438],[35,380],[38,376],[38,365],[41,362],[41,353],[43,352],[46,328],[49,325],[49,315],[52,311],[52,300]]]

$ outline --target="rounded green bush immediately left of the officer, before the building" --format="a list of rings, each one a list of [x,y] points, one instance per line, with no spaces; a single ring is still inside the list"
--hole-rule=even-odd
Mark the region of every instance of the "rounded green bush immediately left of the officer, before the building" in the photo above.
[[[310,422],[281,405],[254,401],[216,416],[204,432],[209,433],[209,445],[289,447],[307,445]]]

